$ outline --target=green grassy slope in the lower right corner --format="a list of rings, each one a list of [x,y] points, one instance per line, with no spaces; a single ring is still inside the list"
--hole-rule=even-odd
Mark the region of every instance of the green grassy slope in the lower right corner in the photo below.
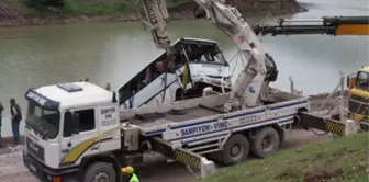
[[[284,150],[227,168],[202,182],[369,181],[369,133]]]

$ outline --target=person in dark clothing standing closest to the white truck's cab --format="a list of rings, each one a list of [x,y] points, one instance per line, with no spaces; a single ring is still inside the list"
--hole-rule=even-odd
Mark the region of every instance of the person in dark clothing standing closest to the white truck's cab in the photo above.
[[[15,103],[14,99],[10,99],[10,114],[11,114],[11,124],[14,136],[14,145],[20,143],[20,132],[19,125],[22,121],[21,107]]]

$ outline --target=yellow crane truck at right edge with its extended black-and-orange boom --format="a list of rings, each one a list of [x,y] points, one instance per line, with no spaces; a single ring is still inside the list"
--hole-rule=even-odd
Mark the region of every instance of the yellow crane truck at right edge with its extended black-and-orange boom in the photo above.
[[[256,34],[261,35],[302,35],[326,34],[369,35],[369,16],[323,16],[311,20],[280,19],[277,25],[255,25]],[[369,129],[369,66],[361,67],[346,78],[348,95],[348,117]]]

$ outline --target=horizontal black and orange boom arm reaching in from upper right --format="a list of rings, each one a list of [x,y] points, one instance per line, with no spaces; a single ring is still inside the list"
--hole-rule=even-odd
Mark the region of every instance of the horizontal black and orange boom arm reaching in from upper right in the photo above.
[[[369,35],[369,16],[324,16],[315,20],[284,20],[277,25],[257,25],[253,27],[256,34],[293,35],[293,34],[326,34],[326,35]]]

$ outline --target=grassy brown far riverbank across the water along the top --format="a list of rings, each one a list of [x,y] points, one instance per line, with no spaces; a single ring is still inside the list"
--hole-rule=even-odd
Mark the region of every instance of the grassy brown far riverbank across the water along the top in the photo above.
[[[124,1],[122,4],[110,4],[109,1],[68,1],[66,10],[51,9],[47,12],[41,12],[26,8],[19,0],[4,0],[0,2],[0,27],[139,21],[131,1]],[[227,3],[236,7],[241,13],[247,16],[292,14],[306,11],[295,0],[227,0]],[[176,0],[168,3],[168,7],[171,20],[194,19],[192,12],[197,4],[192,1]]]

